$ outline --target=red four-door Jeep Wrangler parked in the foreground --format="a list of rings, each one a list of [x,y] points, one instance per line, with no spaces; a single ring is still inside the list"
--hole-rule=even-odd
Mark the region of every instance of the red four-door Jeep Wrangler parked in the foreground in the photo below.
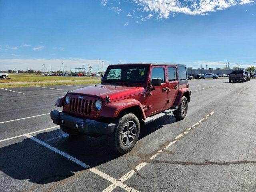
[[[137,142],[141,124],[171,112],[184,119],[190,95],[186,65],[110,65],[100,85],[58,98],[55,105],[63,111],[52,111],[51,118],[70,135],[107,134],[110,145],[123,154]]]

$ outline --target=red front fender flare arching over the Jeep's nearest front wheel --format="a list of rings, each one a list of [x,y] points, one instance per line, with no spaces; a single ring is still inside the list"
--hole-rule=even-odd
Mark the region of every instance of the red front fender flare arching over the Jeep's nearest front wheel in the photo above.
[[[143,110],[142,104],[138,100],[132,99],[132,98],[110,102],[103,106],[102,112],[100,114],[102,117],[113,118],[113,117],[117,117],[122,110],[125,110],[130,107],[134,107],[134,106],[138,106],[138,108],[140,109],[140,112],[142,113],[142,118],[145,120],[146,115]],[[118,113],[116,113],[116,111],[118,111]]]

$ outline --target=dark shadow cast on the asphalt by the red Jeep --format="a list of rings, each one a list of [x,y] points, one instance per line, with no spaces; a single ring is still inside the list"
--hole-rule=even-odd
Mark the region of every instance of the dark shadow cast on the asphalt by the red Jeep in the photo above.
[[[139,140],[175,121],[176,119],[173,116],[166,115],[146,126],[142,126]],[[62,137],[61,135],[63,135],[63,132],[58,129],[43,132],[34,137],[88,164],[90,168],[121,156],[108,147],[107,136],[72,138],[70,136]],[[0,148],[0,162],[0,170],[4,174],[15,180],[28,180],[36,184],[57,182],[74,176],[74,172],[86,170],[30,138]],[[7,185],[9,184],[6,183]]]

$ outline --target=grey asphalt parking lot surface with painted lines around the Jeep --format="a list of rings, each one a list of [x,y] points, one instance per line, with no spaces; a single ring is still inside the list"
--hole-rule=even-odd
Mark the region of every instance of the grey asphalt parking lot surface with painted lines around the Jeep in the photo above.
[[[255,192],[256,80],[189,84],[186,118],[142,127],[122,156],[50,119],[58,97],[87,85],[0,89],[0,191]]]

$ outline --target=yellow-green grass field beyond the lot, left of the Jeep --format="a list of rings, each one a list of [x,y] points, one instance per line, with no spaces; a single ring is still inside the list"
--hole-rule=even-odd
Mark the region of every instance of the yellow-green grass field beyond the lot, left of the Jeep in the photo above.
[[[63,84],[98,84],[100,77],[42,76],[37,74],[9,74],[0,79],[0,88],[63,85]]]

